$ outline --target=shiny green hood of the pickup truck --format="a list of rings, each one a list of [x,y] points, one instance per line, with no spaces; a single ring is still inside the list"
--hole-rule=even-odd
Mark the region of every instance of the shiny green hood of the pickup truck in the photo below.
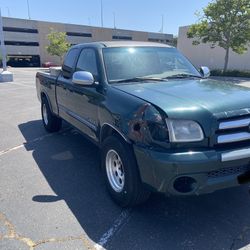
[[[204,111],[215,115],[250,108],[249,88],[212,79],[178,79],[113,86],[158,106],[171,118],[188,118],[198,115],[199,111],[203,115]]]

